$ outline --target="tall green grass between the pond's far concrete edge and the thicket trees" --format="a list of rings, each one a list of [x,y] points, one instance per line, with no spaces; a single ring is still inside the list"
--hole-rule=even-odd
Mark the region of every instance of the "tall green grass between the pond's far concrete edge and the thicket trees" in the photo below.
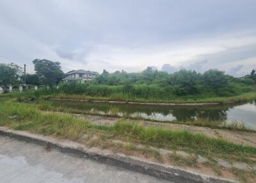
[[[248,93],[250,96],[241,95],[242,93],[253,91],[252,86],[243,84],[228,85],[221,88],[218,92],[209,88],[193,95],[175,95],[172,86],[160,86],[159,84],[129,84],[108,86],[104,84],[81,84],[64,83],[58,90],[51,93],[62,98],[85,99],[85,100],[116,100],[132,102],[173,102],[173,103],[195,103],[195,102],[236,102],[247,99],[256,99],[256,93]],[[254,93],[254,95],[253,95]],[[241,95],[241,96],[239,96]],[[239,97],[237,97],[239,96]],[[53,96],[52,96],[53,97]]]

